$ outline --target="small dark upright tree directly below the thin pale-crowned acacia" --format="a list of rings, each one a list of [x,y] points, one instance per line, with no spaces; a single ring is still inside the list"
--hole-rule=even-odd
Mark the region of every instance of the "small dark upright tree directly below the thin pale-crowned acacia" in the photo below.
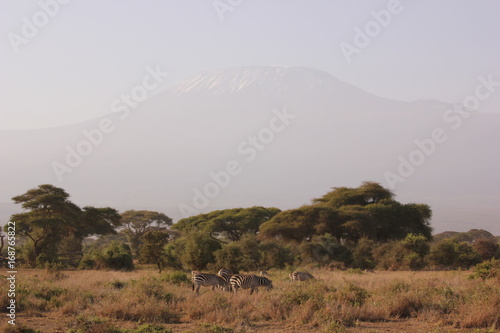
[[[148,231],[141,237],[142,246],[139,261],[145,264],[155,264],[161,273],[166,267],[165,245],[170,235],[164,231]]]

